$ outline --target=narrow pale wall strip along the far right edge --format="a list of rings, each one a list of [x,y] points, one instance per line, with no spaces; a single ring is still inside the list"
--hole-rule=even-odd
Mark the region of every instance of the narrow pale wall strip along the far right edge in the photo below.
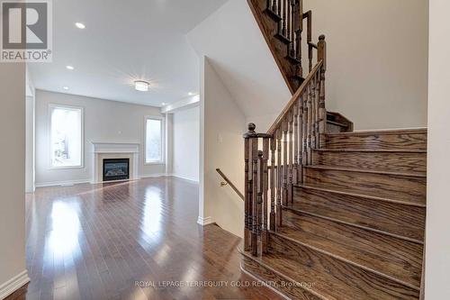
[[[430,0],[428,80],[427,300],[450,299],[450,32],[447,0]]]

